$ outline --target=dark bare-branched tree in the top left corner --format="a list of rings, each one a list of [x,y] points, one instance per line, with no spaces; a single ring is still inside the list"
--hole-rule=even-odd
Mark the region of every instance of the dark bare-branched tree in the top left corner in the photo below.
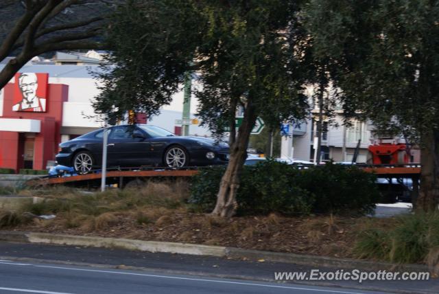
[[[107,3],[108,2],[108,3]],[[0,89],[34,56],[56,50],[99,49],[106,13],[117,1],[6,0],[0,3],[0,60],[14,58],[0,71]],[[10,25],[9,25],[10,24]]]

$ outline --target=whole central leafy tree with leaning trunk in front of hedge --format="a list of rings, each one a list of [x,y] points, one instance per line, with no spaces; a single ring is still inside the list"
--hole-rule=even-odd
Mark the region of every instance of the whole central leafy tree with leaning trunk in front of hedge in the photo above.
[[[117,47],[111,60],[117,67],[101,76],[107,87],[95,109],[112,117],[130,109],[156,114],[178,91],[185,71],[198,71],[202,124],[218,139],[230,128],[230,161],[212,213],[233,216],[257,117],[278,126],[304,117],[307,109],[296,1],[157,0],[147,10],[127,9],[115,17],[115,32],[108,35]],[[134,23],[139,27],[133,29]],[[237,111],[244,118],[236,131]]]

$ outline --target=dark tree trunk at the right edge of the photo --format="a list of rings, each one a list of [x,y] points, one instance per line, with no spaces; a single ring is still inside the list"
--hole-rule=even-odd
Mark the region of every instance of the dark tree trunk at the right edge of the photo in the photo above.
[[[417,208],[424,212],[438,209],[439,204],[439,131],[421,136],[420,191]]]

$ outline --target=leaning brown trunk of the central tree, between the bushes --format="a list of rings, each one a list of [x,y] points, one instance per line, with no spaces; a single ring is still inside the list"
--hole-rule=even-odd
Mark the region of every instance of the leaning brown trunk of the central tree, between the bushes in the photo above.
[[[235,142],[230,146],[230,160],[226,172],[221,179],[219,192],[217,194],[217,203],[212,214],[230,218],[235,215],[237,210],[236,193],[239,188],[239,175],[246,161],[248,140],[250,133],[256,122],[254,106],[248,103],[244,118],[239,127],[238,136]]]

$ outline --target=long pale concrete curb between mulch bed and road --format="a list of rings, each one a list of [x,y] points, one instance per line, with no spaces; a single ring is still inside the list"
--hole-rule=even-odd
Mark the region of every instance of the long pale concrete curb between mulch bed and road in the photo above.
[[[0,240],[10,242],[178,253],[197,256],[215,256],[220,258],[247,259],[254,261],[264,260],[266,262],[283,262],[307,265],[311,267],[330,267],[337,269],[359,269],[362,271],[379,271],[383,269],[397,269],[399,271],[430,271],[429,267],[427,267],[425,264],[394,264],[389,262],[373,262],[347,258],[330,258],[326,256],[309,256],[296,253],[258,251],[235,247],[197,245],[178,242],[143,241],[123,238],[71,236],[22,231],[0,231]]]

